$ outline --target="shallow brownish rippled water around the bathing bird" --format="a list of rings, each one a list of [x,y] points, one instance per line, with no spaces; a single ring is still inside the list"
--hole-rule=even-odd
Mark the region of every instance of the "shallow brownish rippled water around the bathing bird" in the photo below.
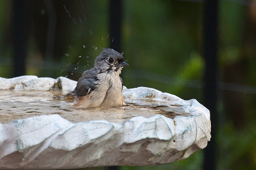
[[[153,99],[125,99],[126,105],[113,107],[73,107],[74,98],[64,98],[61,90],[0,91],[0,123],[9,123],[37,115],[58,114],[70,122],[107,120],[125,122],[135,116],[152,117],[161,114],[169,118],[184,113],[182,105],[171,105]]]

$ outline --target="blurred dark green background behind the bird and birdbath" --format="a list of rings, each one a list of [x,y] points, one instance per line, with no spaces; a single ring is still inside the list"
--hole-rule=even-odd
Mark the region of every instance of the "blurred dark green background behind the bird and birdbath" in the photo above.
[[[130,65],[121,74],[127,88],[152,87],[206,107],[214,100],[205,150],[167,165],[118,169],[256,169],[256,0],[4,0],[0,25],[0,77],[77,81],[100,47],[113,47]],[[217,91],[207,94],[207,82]]]

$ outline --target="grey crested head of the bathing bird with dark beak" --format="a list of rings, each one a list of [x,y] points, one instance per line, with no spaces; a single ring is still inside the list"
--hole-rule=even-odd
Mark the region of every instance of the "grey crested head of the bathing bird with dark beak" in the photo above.
[[[116,72],[120,74],[123,67],[129,66],[124,62],[122,54],[118,53],[112,48],[102,48],[102,52],[95,59],[94,67],[100,69],[102,72]]]

